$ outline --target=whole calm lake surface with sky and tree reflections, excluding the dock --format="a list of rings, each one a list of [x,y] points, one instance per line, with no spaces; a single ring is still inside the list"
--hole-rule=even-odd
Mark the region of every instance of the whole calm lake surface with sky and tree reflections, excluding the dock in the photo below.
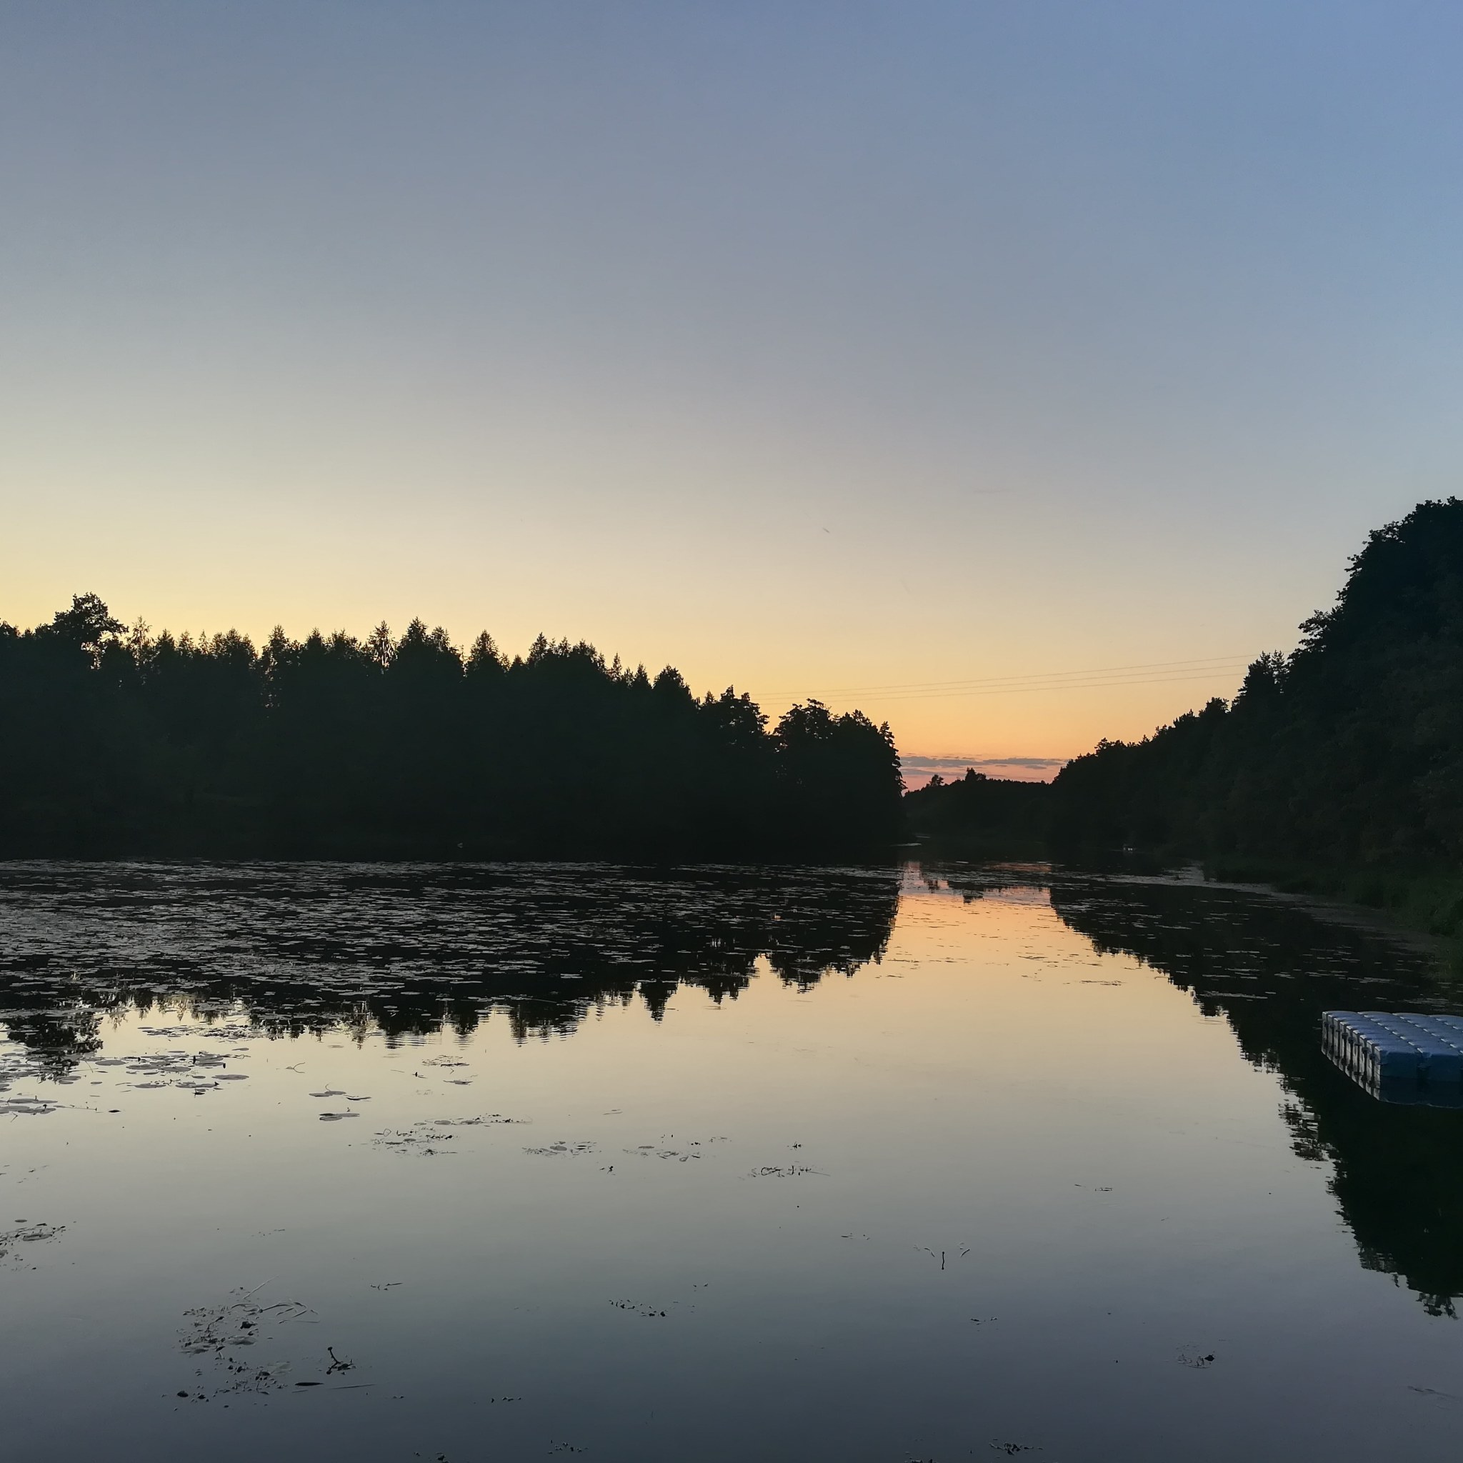
[[[38,1460],[1456,1459],[1423,957],[1043,869],[0,865]]]

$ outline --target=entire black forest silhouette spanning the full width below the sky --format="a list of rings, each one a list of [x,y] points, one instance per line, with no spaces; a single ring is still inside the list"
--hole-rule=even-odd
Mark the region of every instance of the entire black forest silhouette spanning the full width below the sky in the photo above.
[[[1050,786],[970,771],[901,797],[888,726],[818,701],[770,726],[746,693],[698,699],[584,642],[509,660],[414,620],[256,650],[127,631],[78,595],[0,623],[0,853],[808,857],[907,827],[986,853],[1457,869],[1463,500],[1375,530],[1301,633],[1233,701],[1103,740]]]

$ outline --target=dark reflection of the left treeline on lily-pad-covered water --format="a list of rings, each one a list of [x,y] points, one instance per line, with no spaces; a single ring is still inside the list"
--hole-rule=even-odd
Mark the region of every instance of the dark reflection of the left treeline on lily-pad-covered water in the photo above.
[[[0,1024],[64,1075],[108,1014],[269,1034],[566,1034],[682,985],[736,999],[879,960],[894,869],[75,865],[0,869]]]

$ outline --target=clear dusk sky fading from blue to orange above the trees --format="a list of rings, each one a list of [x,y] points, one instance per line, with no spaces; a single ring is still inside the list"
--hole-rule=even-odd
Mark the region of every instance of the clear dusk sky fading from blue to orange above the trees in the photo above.
[[[1463,464],[1463,7],[0,0],[0,619],[1049,775]]]

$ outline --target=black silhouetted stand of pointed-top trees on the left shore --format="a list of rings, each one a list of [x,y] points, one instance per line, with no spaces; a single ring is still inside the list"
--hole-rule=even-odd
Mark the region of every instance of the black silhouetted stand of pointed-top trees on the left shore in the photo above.
[[[543,636],[152,636],[79,595],[0,623],[0,854],[739,857],[900,827],[888,727]]]

